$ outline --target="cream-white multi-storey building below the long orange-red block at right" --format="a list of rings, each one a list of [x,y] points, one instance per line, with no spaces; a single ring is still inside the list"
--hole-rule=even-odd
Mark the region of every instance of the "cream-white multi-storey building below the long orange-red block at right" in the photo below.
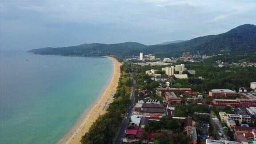
[[[228,114],[226,112],[219,112],[219,115],[220,115],[221,123],[227,124],[227,125],[228,125],[228,123],[232,123],[231,125],[229,125],[229,127],[236,125],[235,120],[238,120],[239,124],[242,124],[244,122],[245,123],[251,122],[251,116],[249,116],[249,115],[234,115],[234,114]],[[229,122],[230,118],[233,121]]]

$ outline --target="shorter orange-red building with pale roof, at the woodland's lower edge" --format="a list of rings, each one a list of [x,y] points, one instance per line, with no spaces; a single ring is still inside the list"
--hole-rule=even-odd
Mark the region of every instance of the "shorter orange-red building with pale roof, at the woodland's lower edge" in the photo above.
[[[209,96],[211,97],[227,97],[227,96],[236,96],[236,92],[229,89],[212,89],[209,91]]]

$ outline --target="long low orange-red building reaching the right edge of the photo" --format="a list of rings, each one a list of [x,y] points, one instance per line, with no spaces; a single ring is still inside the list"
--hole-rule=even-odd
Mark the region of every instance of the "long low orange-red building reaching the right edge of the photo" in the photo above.
[[[223,105],[223,106],[256,106],[256,100],[254,99],[213,99],[213,105]]]

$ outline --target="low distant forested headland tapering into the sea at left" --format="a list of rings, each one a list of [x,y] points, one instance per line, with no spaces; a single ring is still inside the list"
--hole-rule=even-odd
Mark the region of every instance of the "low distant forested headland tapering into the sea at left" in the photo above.
[[[147,45],[136,42],[125,42],[120,44],[80,44],[72,47],[62,48],[39,48],[28,52],[41,55],[64,55],[64,56],[132,56],[138,55]]]

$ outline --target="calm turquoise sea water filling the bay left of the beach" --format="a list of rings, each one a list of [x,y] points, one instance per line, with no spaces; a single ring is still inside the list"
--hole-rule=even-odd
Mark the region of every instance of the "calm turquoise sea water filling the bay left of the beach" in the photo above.
[[[112,67],[104,57],[1,51],[0,144],[58,142],[102,92]]]

